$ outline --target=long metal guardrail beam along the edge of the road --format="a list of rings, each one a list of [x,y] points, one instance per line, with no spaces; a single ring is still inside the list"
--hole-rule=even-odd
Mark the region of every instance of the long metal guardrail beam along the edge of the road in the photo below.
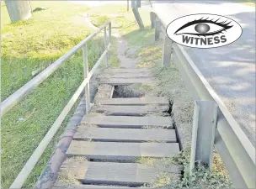
[[[161,30],[165,34],[162,66],[169,65],[171,56],[173,56],[174,63],[179,67],[186,87],[192,93],[194,99],[216,102],[218,106],[214,144],[221,155],[221,160],[227,167],[232,185],[235,188],[256,188],[255,148],[253,144],[251,144],[237,121],[232,117],[224,103],[221,102],[220,97],[217,96],[208,81],[195,66],[183,46],[174,43],[168,38],[166,35],[167,25],[164,24],[161,18],[157,17],[157,14],[151,13],[151,18],[152,28],[155,28],[156,32],[156,39],[159,37]]]

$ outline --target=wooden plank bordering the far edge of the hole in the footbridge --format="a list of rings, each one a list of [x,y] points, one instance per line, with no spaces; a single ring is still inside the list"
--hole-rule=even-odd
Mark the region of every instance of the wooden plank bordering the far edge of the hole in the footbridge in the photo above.
[[[109,84],[109,85],[129,85],[134,83],[154,83],[156,79],[152,77],[132,77],[132,78],[102,78],[100,84]]]

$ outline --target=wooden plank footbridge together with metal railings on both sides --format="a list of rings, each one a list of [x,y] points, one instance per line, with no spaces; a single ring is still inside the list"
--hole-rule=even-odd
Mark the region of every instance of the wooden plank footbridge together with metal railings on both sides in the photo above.
[[[155,37],[159,37],[164,24],[152,14]],[[104,31],[104,52],[88,71],[87,43]],[[221,159],[227,166],[232,182],[237,188],[255,188],[255,149],[239,125],[232,118],[221,99],[189,58],[184,48],[164,36],[162,66],[168,66],[171,57],[182,73],[186,86],[195,97],[195,115],[190,157],[190,171],[195,161],[212,165],[215,144]],[[165,97],[113,97],[90,101],[90,79],[104,61],[108,67],[111,44],[111,22],[107,22],[83,39],[72,50],[62,55],[51,66],[26,83],[18,91],[1,102],[1,116],[33,92],[78,50],[83,50],[84,79],[65,108],[45,134],[34,153],[19,172],[10,188],[21,188],[35,167],[47,145],[61,127],[77,99],[85,92],[64,134],[45,166],[35,188],[132,188],[151,187],[159,176],[168,174],[179,180],[180,165],[147,165],[147,159],[163,160],[179,153],[176,128],[170,117],[156,116],[166,113],[169,102]],[[98,78],[100,85],[129,85],[155,82],[146,69],[113,69]],[[80,106],[81,105],[81,106]],[[1,155],[1,150],[0,150]],[[143,160],[144,161],[143,161]],[[144,162],[144,163],[143,163]]]

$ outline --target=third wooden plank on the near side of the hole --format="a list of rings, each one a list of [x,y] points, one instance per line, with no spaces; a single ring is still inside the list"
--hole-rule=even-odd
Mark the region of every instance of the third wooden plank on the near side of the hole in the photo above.
[[[172,118],[170,117],[130,117],[130,116],[99,116],[85,115],[82,124],[96,124],[105,128],[131,128],[140,129],[144,126],[154,126],[159,128],[168,127],[173,129]]]

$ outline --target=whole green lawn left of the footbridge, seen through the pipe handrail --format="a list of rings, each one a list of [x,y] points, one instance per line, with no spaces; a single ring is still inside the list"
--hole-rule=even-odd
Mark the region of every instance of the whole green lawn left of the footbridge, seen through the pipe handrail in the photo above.
[[[33,78],[32,71],[44,70],[92,32],[84,24],[83,13],[88,8],[83,5],[68,2],[31,2],[31,5],[32,8],[46,7],[46,10],[33,13],[27,21],[10,24],[5,4],[1,4],[2,100]],[[90,69],[103,51],[104,40],[101,37],[88,44]],[[112,63],[117,66],[119,62],[112,58],[110,65]],[[3,188],[8,188],[13,182],[82,80],[83,57],[80,50],[3,116]],[[35,184],[72,113],[62,123],[24,187],[30,188]]]

